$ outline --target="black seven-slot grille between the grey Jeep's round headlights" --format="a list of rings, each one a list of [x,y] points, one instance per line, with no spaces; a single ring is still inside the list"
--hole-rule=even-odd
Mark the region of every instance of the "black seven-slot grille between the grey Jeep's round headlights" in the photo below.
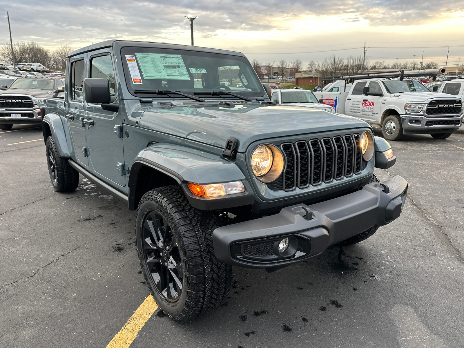
[[[287,165],[267,187],[292,191],[361,174],[367,162],[362,158],[360,139],[359,134],[354,134],[282,143]]]

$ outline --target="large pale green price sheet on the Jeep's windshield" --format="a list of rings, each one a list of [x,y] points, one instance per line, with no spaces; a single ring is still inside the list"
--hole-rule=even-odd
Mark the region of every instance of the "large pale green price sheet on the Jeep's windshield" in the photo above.
[[[190,80],[180,54],[135,52],[135,56],[140,64],[143,78]]]

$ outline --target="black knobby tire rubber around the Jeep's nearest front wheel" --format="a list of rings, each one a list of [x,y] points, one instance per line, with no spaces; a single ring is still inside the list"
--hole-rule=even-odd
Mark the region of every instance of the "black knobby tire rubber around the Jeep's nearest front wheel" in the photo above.
[[[156,288],[151,271],[155,273],[159,265],[149,270],[144,251],[146,239],[142,238],[147,235],[144,226],[149,214],[154,213],[160,213],[166,219],[180,255],[178,264],[182,265],[182,289],[174,303]],[[217,213],[193,208],[178,185],[155,188],[143,195],[135,219],[140,265],[153,298],[170,318],[191,321],[219,307],[226,299],[231,286],[232,266],[216,259],[212,240],[213,231],[222,225]]]

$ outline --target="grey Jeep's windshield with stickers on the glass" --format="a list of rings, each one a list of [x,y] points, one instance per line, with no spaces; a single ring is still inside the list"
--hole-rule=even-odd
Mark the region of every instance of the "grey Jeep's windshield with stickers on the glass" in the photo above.
[[[264,95],[263,86],[245,57],[148,47],[123,47],[121,56],[126,84],[136,97],[166,98],[165,94],[149,92],[155,90],[208,98],[230,96],[202,92],[224,90],[244,97]]]

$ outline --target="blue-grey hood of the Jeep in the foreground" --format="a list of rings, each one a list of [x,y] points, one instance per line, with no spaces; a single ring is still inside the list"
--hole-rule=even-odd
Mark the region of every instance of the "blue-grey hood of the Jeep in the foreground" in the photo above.
[[[239,141],[238,152],[263,139],[369,127],[358,118],[324,110],[254,103],[234,108],[219,104],[154,106],[143,112],[139,126],[219,148],[233,136]]]

